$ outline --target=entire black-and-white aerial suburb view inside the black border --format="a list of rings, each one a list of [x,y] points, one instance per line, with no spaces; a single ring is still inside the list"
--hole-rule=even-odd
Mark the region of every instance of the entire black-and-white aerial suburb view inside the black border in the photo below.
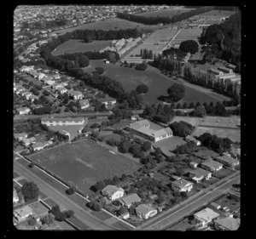
[[[238,230],[241,12],[18,5],[13,228]]]

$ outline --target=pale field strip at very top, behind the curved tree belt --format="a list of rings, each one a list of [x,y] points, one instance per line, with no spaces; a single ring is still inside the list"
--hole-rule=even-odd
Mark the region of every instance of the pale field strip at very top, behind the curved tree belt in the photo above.
[[[183,7],[174,7],[170,9],[161,9],[157,11],[152,11],[152,12],[147,12],[147,13],[141,13],[141,14],[136,14],[139,16],[144,16],[144,17],[170,17],[172,18],[174,15],[177,14],[183,14],[191,11],[192,9],[183,9]]]

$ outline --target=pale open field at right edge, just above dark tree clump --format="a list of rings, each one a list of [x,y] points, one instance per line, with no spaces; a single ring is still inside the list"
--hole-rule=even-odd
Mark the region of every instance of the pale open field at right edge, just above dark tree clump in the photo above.
[[[238,129],[198,127],[193,135],[200,136],[204,133],[216,134],[221,138],[230,138],[233,142],[241,142],[241,131]]]

